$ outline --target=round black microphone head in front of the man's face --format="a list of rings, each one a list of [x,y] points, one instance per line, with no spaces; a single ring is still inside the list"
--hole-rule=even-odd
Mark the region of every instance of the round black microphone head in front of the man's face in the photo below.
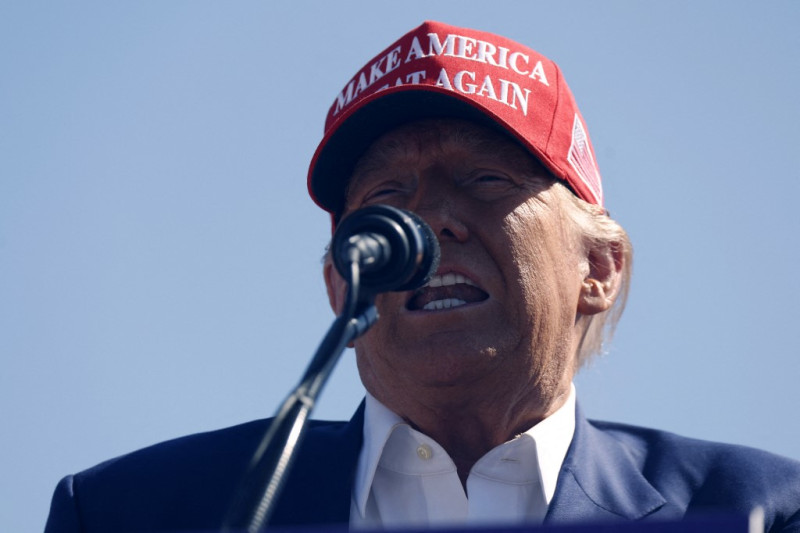
[[[360,286],[373,294],[421,287],[436,273],[441,256],[439,241],[422,218],[388,205],[348,215],[333,234],[331,252],[348,282],[357,262]]]

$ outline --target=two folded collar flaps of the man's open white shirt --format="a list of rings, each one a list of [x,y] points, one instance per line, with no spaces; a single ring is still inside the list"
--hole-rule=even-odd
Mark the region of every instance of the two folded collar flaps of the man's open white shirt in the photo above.
[[[403,425],[408,424],[369,392],[367,393],[364,411],[364,445],[358,456],[353,487],[353,498],[361,516],[366,513],[372,480],[386,442],[394,429]],[[570,385],[569,396],[564,405],[521,435],[532,439],[536,446],[542,489],[548,504],[555,493],[558,473],[574,433],[575,385]]]

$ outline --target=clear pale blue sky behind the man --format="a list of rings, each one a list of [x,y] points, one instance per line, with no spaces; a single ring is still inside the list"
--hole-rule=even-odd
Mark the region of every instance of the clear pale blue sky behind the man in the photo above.
[[[800,3],[0,4],[0,530],[67,473],[272,414],[333,316],[308,161],[424,19],[553,58],[636,247],[592,417],[800,459]],[[363,394],[345,353],[317,416]]]

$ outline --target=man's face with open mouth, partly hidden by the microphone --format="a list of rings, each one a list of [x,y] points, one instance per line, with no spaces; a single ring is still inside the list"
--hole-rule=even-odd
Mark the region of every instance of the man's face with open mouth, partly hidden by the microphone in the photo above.
[[[380,320],[355,343],[367,390],[396,410],[403,395],[435,391],[520,407],[566,392],[588,266],[560,186],[515,143],[469,122],[418,122],[373,144],[345,215],[373,204],[414,211],[442,259],[428,286],[377,297]]]

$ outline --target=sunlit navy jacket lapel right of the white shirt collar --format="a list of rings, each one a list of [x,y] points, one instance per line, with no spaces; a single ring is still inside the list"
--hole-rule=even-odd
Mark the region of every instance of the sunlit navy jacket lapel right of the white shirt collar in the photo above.
[[[575,435],[545,522],[638,520],[665,503],[642,476],[634,451],[576,407]]]

